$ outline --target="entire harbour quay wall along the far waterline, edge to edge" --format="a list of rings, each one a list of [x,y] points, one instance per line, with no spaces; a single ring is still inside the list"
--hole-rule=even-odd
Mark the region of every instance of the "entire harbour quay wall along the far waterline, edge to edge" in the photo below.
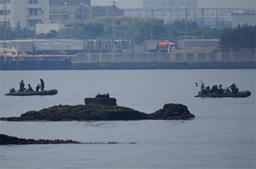
[[[0,56],[0,70],[255,69],[255,52]]]

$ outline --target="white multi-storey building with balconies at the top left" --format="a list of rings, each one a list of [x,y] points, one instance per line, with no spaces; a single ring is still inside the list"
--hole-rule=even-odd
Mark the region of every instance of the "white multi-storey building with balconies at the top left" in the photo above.
[[[35,30],[35,24],[49,24],[49,0],[0,0],[0,6],[0,26],[4,18],[5,26],[12,28],[18,22],[22,29],[31,30]]]

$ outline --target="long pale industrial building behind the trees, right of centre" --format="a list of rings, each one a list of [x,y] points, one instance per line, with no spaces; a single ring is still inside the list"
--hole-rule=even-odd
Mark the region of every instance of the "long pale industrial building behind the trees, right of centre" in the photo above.
[[[183,7],[160,8],[153,10],[153,17],[159,18],[165,24],[171,24],[175,20],[185,20],[185,9]],[[232,26],[232,14],[254,14],[256,9],[229,9],[229,8],[204,8],[204,27],[224,28]],[[124,9],[124,16],[148,17],[151,18],[152,10],[150,7],[139,9]],[[187,7],[187,21],[195,21],[202,27],[201,8]]]

